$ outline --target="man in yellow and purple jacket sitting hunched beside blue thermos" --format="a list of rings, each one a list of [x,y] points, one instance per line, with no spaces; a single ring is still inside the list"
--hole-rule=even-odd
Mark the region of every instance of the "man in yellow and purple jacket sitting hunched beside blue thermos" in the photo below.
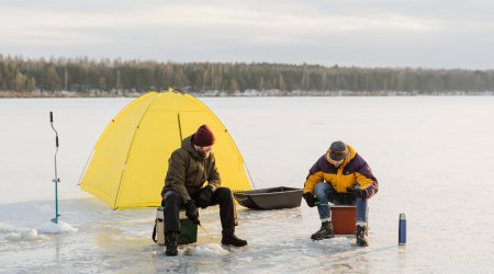
[[[304,184],[303,197],[310,207],[317,205],[321,229],[311,239],[334,237],[329,203],[356,205],[356,238],[359,247],[369,246],[367,239],[367,201],[378,193],[379,183],[369,164],[357,151],[343,141],[334,141],[327,152],[311,168]]]

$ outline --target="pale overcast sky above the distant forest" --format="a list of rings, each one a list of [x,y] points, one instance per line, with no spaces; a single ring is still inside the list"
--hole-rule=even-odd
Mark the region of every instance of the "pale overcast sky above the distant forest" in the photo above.
[[[494,69],[494,1],[0,0],[0,54]]]

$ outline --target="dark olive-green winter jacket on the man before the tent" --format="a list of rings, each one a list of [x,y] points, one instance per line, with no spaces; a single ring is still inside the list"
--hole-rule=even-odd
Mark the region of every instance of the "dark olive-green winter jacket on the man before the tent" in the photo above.
[[[182,140],[182,147],[175,150],[168,160],[168,172],[165,179],[165,186],[161,197],[168,191],[175,191],[187,203],[207,181],[207,185],[216,191],[221,185],[220,173],[216,169],[214,153],[203,158],[192,145],[193,135]]]

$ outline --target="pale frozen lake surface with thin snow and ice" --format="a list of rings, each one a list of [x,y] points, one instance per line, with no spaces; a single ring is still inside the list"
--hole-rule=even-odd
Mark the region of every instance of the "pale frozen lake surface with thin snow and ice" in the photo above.
[[[345,140],[380,181],[369,248],[314,242],[315,208],[238,206],[237,233],[220,243],[218,209],[201,212],[210,239],[167,258],[151,242],[154,209],[113,212],[77,183],[106,124],[132,99],[0,100],[0,273],[31,272],[494,272],[494,98],[206,98],[258,189],[302,187],[333,140]],[[54,233],[55,114],[63,233]],[[407,244],[397,246],[400,213]],[[55,231],[57,231],[55,229]],[[59,231],[59,230],[58,230]]]

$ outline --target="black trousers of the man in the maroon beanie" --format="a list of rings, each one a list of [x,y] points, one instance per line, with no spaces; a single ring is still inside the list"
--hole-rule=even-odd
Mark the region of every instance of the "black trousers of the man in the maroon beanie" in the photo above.
[[[193,195],[191,198],[195,201],[199,196]],[[173,191],[168,191],[161,201],[161,206],[165,207],[165,232],[180,231],[180,209],[184,208],[184,201],[180,194]],[[234,231],[237,225],[237,212],[235,209],[235,202],[233,199],[232,191],[228,187],[218,187],[211,196],[211,204],[220,205],[220,219],[222,221],[223,231]],[[200,218],[201,219],[201,218]]]

